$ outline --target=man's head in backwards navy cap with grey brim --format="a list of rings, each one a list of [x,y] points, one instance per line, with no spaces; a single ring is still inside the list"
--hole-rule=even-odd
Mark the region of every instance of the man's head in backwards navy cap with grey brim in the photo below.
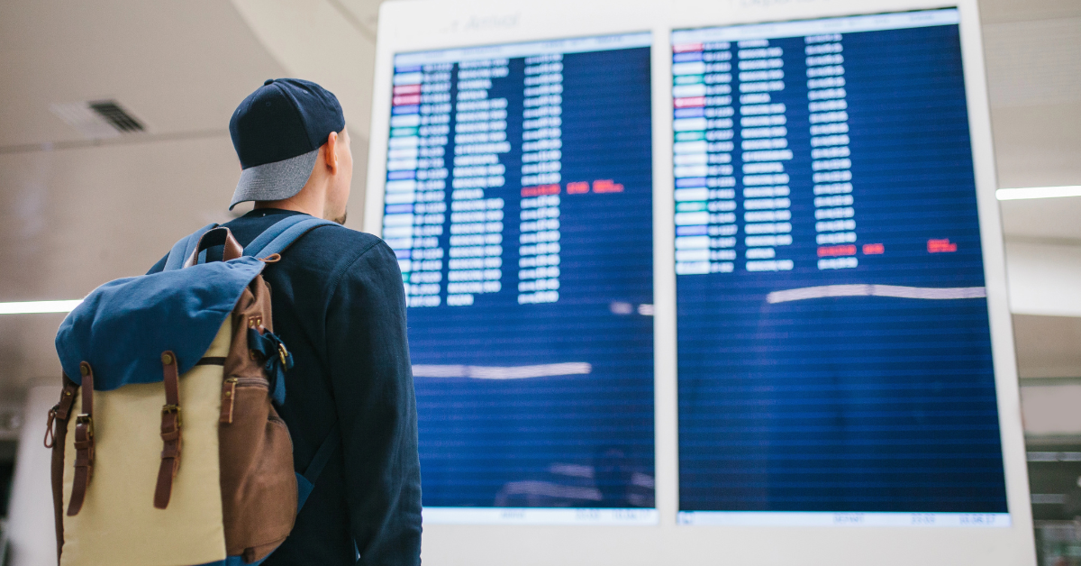
[[[230,209],[254,200],[345,222],[352,154],[332,93],[305,80],[267,80],[237,107],[229,133],[242,169]]]

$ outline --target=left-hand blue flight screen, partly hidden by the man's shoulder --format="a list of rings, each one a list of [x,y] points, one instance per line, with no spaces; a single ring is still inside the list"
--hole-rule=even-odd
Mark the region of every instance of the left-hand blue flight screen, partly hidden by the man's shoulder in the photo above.
[[[656,522],[650,44],[395,56],[426,522]]]

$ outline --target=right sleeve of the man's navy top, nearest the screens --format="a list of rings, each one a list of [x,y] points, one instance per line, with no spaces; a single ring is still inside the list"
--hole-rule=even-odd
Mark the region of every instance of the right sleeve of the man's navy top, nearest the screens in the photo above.
[[[379,241],[362,253],[328,307],[328,359],[357,564],[419,565],[416,397],[393,251]]]

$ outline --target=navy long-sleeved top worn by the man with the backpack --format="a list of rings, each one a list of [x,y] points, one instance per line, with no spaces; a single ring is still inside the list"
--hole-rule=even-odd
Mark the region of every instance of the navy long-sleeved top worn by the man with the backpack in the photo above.
[[[246,246],[288,214],[298,212],[259,209],[225,226]],[[163,267],[164,259],[150,273]],[[393,251],[370,234],[320,226],[263,275],[273,331],[293,353],[280,413],[296,469],[342,424],[342,450],[264,564],[421,564],[416,399]]]

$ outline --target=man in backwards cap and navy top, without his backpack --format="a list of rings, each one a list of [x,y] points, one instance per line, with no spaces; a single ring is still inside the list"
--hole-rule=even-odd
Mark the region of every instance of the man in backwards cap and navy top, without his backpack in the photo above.
[[[270,79],[229,121],[242,172],[225,224],[246,246],[290,214],[345,222],[352,157],[337,98],[316,83]],[[164,259],[150,273],[159,272]],[[305,470],[341,424],[326,464],[285,542],[264,563],[379,566],[421,563],[416,402],[405,298],[393,251],[339,226],[303,236],[264,277],[273,331],[293,354],[279,412]],[[359,554],[359,558],[358,558]]]

